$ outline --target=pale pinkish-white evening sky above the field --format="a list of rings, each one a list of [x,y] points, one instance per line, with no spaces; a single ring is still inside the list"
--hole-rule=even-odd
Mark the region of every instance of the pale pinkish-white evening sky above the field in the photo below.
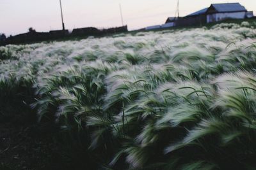
[[[129,30],[164,24],[173,17],[177,0],[61,0],[65,27],[70,31],[79,27],[108,28],[124,24]],[[256,15],[255,0],[180,0],[180,17],[209,7],[211,3],[241,3]],[[28,32],[61,29],[59,0],[0,0],[0,32],[7,36]]]

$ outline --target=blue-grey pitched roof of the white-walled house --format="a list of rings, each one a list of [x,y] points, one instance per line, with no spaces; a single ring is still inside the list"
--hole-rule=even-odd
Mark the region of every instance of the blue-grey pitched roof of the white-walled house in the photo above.
[[[240,3],[211,4],[211,6],[218,12],[246,11]]]

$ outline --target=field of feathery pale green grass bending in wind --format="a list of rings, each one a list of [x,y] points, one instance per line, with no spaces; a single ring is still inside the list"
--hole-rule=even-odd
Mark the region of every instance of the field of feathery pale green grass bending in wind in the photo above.
[[[255,169],[255,27],[2,46],[0,123],[54,131],[73,169]]]

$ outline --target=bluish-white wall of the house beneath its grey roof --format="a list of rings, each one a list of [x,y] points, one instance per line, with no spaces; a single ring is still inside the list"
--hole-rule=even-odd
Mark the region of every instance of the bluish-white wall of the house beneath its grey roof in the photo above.
[[[234,12],[234,13],[213,13],[207,15],[207,23],[218,22],[227,18],[243,19],[246,17],[246,12]]]

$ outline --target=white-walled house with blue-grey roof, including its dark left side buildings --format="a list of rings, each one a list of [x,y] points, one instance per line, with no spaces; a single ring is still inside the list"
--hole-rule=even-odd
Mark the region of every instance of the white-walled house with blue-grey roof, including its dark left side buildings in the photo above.
[[[172,17],[170,17],[166,20],[166,23],[173,22],[173,26],[188,26],[219,22],[228,18],[243,19],[252,17],[253,11],[247,11],[240,3],[222,3],[211,4],[209,8],[204,8],[177,20],[172,20]]]

